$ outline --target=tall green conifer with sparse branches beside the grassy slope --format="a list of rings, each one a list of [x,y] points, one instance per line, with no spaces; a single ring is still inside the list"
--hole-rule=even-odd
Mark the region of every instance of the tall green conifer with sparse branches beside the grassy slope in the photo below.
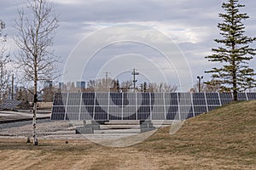
[[[255,37],[244,35],[245,26],[242,20],[247,20],[247,14],[241,14],[239,9],[245,7],[238,3],[238,0],[229,0],[223,3],[225,14],[219,14],[223,18],[223,23],[218,24],[220,35],[223,39],[215,39],[221,47],[212,48],[213,54],[206,58],[212,62],[218,62],[220,68],[212,68],[212,78],[220,82],[223,91],[231,91],[234,100],[237,100],[237,93],[256,86],[255,73],[249,67],[248,61],[253,59],[255,48],[250,48],[249,44],[256,40]]]

